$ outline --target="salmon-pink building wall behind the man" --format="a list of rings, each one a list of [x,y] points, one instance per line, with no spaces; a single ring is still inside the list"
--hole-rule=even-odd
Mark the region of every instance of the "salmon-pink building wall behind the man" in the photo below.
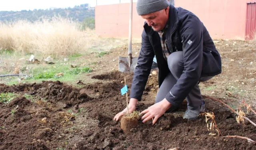
[[[244,39],[246,30],[246,2],[248,0],[176,0],[182,7],[196,14],[209,30],[212,38]],[[128,38],[129,3],[96,6],[96,33],[103,37]],[[137,15],[133,4],[132,36],[140,38],[144,20]]]

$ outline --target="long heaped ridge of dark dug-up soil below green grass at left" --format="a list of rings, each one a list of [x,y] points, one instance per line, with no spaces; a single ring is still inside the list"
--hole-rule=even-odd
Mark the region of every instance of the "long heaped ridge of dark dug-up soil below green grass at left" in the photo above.
[[[86,93],[80,92],[80,89],[73,88],[60,81],[42,81],[40,84],[19,84],[14,86],[5,85],[4,88],[0,88],[0,92],[23,92],[30,95],[39,95],[41,98],[51,102],[63,102],[66,104],[65,107],[92,100]],[[16,100],[12,103],[14,102]]]

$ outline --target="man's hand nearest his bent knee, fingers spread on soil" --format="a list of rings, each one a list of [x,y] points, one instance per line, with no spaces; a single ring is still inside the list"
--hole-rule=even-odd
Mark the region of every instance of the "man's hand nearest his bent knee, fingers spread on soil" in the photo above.
[[[158,118],[162,116],[166,110],[168,110],[172,104],[164,98],[161,102],[158,102],[152,106],[150,106],[148,109],[141,112],[141,114],[144,114],[142,116],[142,122],[145,123],[146,121],[150,120],[151,118],[154,118],[153,125],[156,123]]]

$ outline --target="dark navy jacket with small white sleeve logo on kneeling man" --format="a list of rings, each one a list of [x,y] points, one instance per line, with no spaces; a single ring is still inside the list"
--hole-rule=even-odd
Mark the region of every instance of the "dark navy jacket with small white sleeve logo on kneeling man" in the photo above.
[[[166,95],[166,99],[178,106],[202,76],[221,73],[221,58],[204,24],[192,12],[170,5],[169,27],[166,33],[168,49],[182,51],[184,70],[177,83]],[[145,22],[138,65],[134,71],[130,98],[141,100],[154,55],[159,68],[158,84],[170,73],[163,57],[160,36]]]

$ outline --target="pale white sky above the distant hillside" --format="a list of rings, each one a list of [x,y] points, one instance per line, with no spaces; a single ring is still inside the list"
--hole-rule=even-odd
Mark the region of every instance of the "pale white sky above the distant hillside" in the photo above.
[[[130,0],[1,0],[0,11],[20,11],[47,8],[73,8],[75,5],[89,3],[91,7],[96,5],[125,3]],[[133,0],[136,2],[137,0]]]

